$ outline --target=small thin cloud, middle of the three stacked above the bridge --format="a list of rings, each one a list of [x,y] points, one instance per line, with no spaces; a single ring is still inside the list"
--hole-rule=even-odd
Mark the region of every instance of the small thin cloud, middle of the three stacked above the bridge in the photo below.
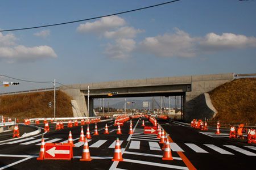
[[[116,31],[106,31],[104,36],[108,39],[124,39],[124,38],[134,38],[137,33],[141,33],[140,29],[135,29],[133,27],[121,27]]]

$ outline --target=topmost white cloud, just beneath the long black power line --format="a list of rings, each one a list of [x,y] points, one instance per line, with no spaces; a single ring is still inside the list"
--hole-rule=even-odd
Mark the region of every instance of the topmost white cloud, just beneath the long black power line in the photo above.
[[[118,16],[107,16],[100,20],[96,20],[93,23],[86,22],[85,24],[80,24],[76,31],[79,33],[92,32],[99,34],[108,31],[109,29],[121,27],[124,24],[125,20]]]

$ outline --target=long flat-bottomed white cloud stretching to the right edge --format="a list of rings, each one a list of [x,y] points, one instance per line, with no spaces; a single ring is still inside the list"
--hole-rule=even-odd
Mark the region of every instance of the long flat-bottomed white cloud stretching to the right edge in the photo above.
[[[208,33],[204,37],[192,37],[189,33],[176,29],[174,34],[147,37],[139,45],[143,52],[159,57],[194,57],[222,50],[256,47],[256,38],[233,33]]]

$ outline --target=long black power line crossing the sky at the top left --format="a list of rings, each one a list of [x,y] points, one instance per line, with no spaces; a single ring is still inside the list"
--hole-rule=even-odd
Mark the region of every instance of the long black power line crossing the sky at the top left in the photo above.
[[[43,27],[52,27],[52,26],[57,26],[57,25],[64,25],[64,24],[71,24],[71,23],[83,22],[83,21],[86,21],[86,20],[99,19],[99,18],[103,18],[103,17],[106,17],[106,16],[120,15],[120,14],[125,14],[125,13],[128,13],[128,12],[134,12],[134,11],[144,10],[144,9],[147,9],[147,8],[152,8],[152,7],[156,7],[156,6],[166,5],[166,4],[168,4],[168,3],[177,2],[177,1],[180,1],[180,0],[169,1],[169,2],[165,2],[165,3],[159,3],[159,4],[157,4],[157,5],[152,5],[152,6],[147,6],[147,7],[143,7],[143,8],[138,8],[138,9],[135,9],[135,10],[129,10],[129,11],[118,12],[118,13],[110,14],[110,15],[103,15],[103,16],[96,16],[96,17],[94,17],[94,18],[75,20],[75,21],[72,21],[72,22],[59,23],[59,24],[49,24],[49,25],[42,25],[42,26],[38,26],[38,27],[5,29],[5,30],[0,30],[0,32],[19,31],[19,30],[24,30],[24,29],[35,29],[35,28],[43,28]]]

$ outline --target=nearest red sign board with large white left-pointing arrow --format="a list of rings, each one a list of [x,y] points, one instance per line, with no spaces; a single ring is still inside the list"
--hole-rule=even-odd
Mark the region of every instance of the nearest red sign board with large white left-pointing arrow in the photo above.
[[[44,159],[63,159],[71,160],[73,158],[72,146],[69,143],[46,143],[44,150]]]

